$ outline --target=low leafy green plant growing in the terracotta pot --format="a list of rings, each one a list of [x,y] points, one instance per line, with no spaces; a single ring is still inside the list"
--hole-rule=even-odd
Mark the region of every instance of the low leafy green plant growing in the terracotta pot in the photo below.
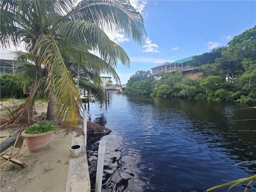
[[[29,126],[25,133],[27,134],[39,134],[46,133],[49,131],[55,131],[57,127],[51,121],[38,121],[34,125]]]

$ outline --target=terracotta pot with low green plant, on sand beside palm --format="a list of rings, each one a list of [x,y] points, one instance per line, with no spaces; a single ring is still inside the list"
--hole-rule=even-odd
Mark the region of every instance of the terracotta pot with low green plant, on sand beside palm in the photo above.
[[[49,145],[55,130],[57,130],[57,127],[53,122],[38,121],[29,126],[21,135],[26,138],[29,150],[35,153]]]

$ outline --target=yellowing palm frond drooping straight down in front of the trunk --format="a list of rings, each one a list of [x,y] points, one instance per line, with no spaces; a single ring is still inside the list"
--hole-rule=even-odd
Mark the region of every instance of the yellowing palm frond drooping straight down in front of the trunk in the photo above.
[[[63,117],[70,130],[77,128],[82,101],[68,73],[58,43],[51,35],[40,35],[33,52],[48,71],[47,90],[50,90],[49,98],[57,99],[57,119]]]

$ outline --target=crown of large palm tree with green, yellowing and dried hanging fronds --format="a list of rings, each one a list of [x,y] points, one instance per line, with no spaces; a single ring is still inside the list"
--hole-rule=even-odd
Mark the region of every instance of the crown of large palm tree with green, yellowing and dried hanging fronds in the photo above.
[[[68,65],[73,63],[98,74],[111,74],[118,81],[117,63],[129,66],[130,59],[103,30],[121,31],[140,45],[145,42],[143,19],[129,1],[81,1],[76,6],[75,3],[69,0],[0,2],[2,46],[24,43],[27,53],[22,57],[29,59],[36,70],[28,100],[15,111],[12,121],[30,121],[35,96],[45,77],[47,119],[63,118],[70,129],[77,127],[82,101]],[[98,52],[100,57],[90,50]]]

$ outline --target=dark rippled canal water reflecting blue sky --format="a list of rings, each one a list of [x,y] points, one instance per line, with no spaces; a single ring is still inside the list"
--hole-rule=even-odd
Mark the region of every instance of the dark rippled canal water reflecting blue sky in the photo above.
[[[256,160],[256,132],[238,131],[256,130],[256,121],[235,121],[256,118],[256,109],[234,110],[244,107],[250,106],[115,93],[102,107],[90,103],[91,121],[113,131],[104,137],[102,191],[195,192],[256,174],[256,163],[235,165]],[[92,188],[97,150],[88,151]]]

